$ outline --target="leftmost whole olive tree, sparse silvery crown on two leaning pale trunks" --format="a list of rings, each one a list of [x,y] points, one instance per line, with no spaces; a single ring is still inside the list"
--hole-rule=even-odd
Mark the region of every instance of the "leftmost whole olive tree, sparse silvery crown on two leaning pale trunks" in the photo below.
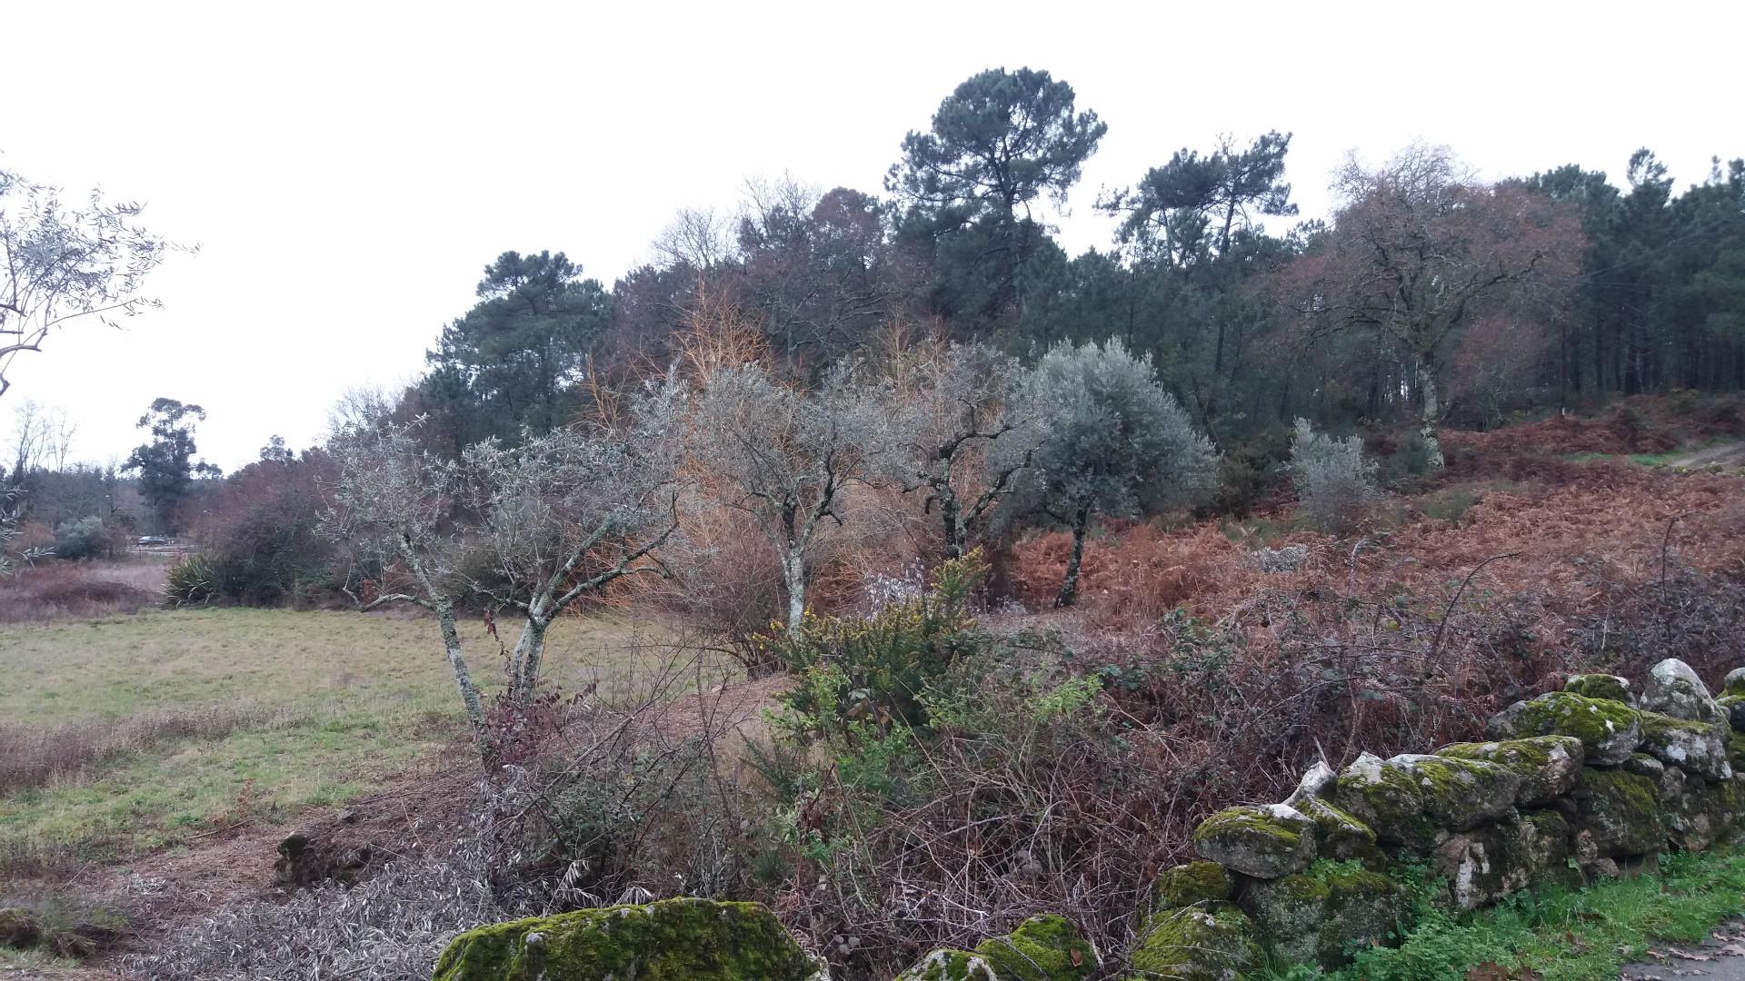
[[[510,698],[539,684],[546,632],[609,583],[661,573],[656,550],[677,531],[682,393],[670,381],[630,401],[619,424],[487,440],[459,461],[426,452],[417,424],[365,424],[330,449],[340,478],[328,534],[352,545],[375,574],[359,609],[410,602],[436,614],[461,700],[475,728],[483,707],[471,679],[457,607],[513,609]]]

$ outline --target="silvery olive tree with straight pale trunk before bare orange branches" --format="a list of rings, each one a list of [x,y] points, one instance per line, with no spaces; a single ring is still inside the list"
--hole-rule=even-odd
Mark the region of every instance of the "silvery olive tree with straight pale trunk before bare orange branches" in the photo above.
[[[879,391],[848,367],[813,391],[757,363],[721,368],[696,394],[691,452],[715,499],[750,515],[775,546],[789,630],[806,613],[808,550],[825,520],[843,522],[843,490],[874,473],[888,429]]]

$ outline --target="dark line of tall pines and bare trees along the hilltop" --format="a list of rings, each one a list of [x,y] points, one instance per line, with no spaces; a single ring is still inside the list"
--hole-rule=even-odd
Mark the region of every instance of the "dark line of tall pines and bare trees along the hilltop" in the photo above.
[[[1038,206],[1105,133],[1066,82],[989,70],[902,140],[885,197],[754,182],[733,215],[681,213],[611,288],[504,253],[407,408],[450,454],[550,431],[590,386],[667,365],[707,302],[813,379],[892,323],[1021,358],[1113,337],[1220,449],[1297,417],[1412,417],[1434,457],[1447,421],[1745,388],[1745,161],[1677,194],[1647,150],[1618,187],[1577,166],[1483,183],[1410,147],[1352,161],[1330,220],[1295,223],[1291,134],[1225,138],[1105,192],[1115,239],[1068,257]]]

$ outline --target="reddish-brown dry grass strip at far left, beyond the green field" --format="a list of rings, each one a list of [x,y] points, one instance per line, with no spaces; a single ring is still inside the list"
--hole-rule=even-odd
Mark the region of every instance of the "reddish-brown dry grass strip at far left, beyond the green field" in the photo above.
[[[44,560],[0,576],[0,623],[138,613],[164,602],[161,557],[115,562]]]

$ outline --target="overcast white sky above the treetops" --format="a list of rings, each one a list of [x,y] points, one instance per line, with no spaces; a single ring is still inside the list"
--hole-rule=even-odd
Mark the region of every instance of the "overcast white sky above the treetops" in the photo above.
[[[1178,147],[1295,131],[1305,215],[1347,150],[1448,143],[1487,176],[1621,180],[1654,148],[1682,189],[1745,154],[1736,0],[1581,3],[96,3],[0,0],[0,166],[148,202],[199,243],[164,309],[21,356],[0,403],[124,457],[152,398],[197,401],[232,470],[309,445],[335,398],[422,368],[503,250],[612,278],[682,206],[747,176],[879,190],[909,129],[991,66],[1047,68],[1108,136],[1063,216]],[[0,435],[0,445],[9,445]]]

